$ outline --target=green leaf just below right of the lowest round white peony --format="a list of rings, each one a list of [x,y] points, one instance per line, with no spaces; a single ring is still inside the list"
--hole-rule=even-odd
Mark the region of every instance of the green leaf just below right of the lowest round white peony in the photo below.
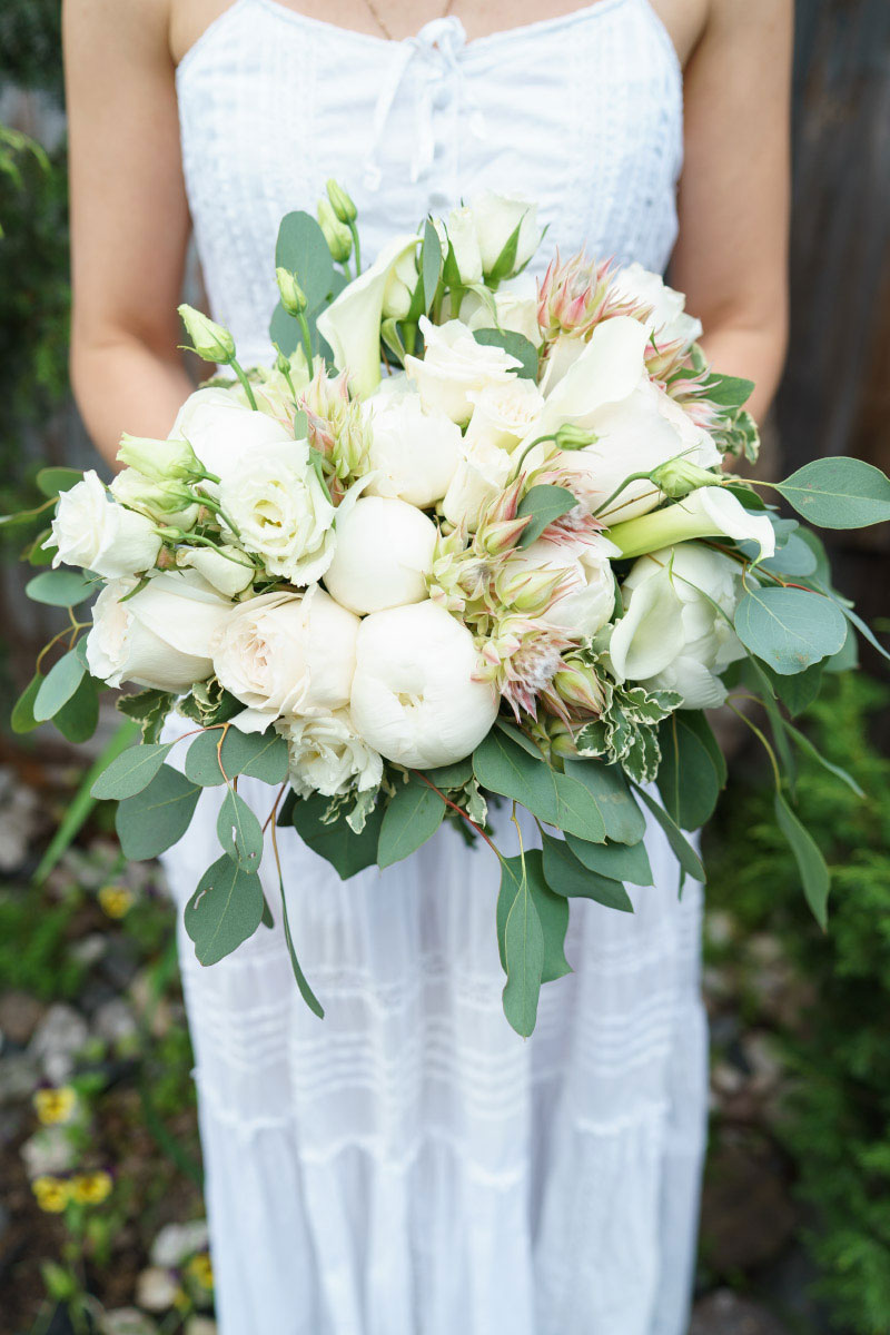
[[[538,820],[582,838],[602,841],[606,828],[596,798],[568,774],[559,774],[542,758],[492,728],[472,754],[472,768],[483,788],[527,806]]]

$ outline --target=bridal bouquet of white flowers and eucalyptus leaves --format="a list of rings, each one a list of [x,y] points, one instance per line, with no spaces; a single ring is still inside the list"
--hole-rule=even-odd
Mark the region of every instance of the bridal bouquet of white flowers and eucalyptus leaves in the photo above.
[[[825,920],[827,869],[791,805],[794,750],[813,746],[791,720],[854,661],[853,627],[875,641],[769,498],[851,529],[890,518],[890,482],[849,458],[779,483],[725,473],[757,455],[753,386],[707,366],[683,296],[584,255],[535,284],[540,240],[534,204],[487,195],[362,270],[332,182],[318,222],[282,223],[274,366],[243,367],[228,330],[183,307],[223,374],[169,438],[124,435],[111,486],[41,475],[55,518],[29,559],[52,569],[29,593],[69,625],[13,722],[83,738],[99,688],[141,688],[117,701],[141,744],[92,792],[145,858],[221,790],[220,856],[185,909],[204,964],[271,924],[258,870],[282,826],[348,877],[447,820],[499,858],[504,1012],[527,1035],[540,984],[568,971],[568,900],[632,912],[627,886],[651,884],[644,813],[703,876],[683,832],[726,778],[705,713],[725,704],[769,752]],[[159,740],[171,712],[193,724],[180,742]],[[275,789],[264,810],[247,778]],[[504,800],[535,846],[495,846]],[[322,1015],[283,894],[280,912]]]

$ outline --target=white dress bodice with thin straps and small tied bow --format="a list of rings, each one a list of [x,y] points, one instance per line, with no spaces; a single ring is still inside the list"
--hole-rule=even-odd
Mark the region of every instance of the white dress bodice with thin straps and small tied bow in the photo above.
[[[328,176],[367,258],[484,188],[538,200],[543,252],[662,270],[677,234],[682,75],[648,0],[467,40],[456,17],[390,41],[235,0],[177,71],[185,184],[211,308],[268,360],[282,216]]]

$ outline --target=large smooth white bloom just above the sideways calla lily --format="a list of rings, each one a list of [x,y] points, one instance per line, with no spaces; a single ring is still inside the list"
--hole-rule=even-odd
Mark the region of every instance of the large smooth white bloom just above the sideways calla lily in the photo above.
[[[678,455],[702,469],[721,462],[709,433],[647,376],[626,398],[591,414],[586,425],[598,435],[594,445],[560,451],[552,463],[572,474],[591,510],[603,505],[631,473],[651,473]],[[663,499],[658,487],[642,478],[630,482],[599,518],[603,523],[623,523],[654,510]]]

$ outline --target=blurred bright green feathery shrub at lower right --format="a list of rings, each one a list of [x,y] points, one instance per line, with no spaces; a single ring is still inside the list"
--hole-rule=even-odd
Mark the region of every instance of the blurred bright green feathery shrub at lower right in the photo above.
[[[711,905],[743,932],[777,933],[811,989],[806,1013],[782,1032],[793,1081],[778,1129],[811,1207],[819,1292],[855,1335],[890,1331],[890,760],[869,737],[889,700],[875,682],[842,676],[806,716],[817,745],[869,794],[861,801],[814,762],[801,765],[801,814],[831,868],[826,934],[775,834],[766,785],[737,782],[711,834]]]

